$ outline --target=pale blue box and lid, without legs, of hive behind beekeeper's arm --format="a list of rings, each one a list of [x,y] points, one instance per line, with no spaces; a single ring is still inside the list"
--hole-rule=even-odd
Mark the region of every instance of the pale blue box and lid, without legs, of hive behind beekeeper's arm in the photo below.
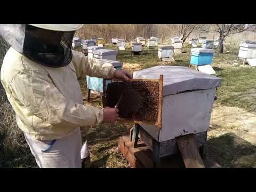
[[[117,70],[121,70],[123,63],[119,61],[112,61],[112,60],[106,60],[106,59],[101,59],[100,61],[102,62],[107,62],[111,63]],[[86,76],[86,82],[87,82],[87,89],[94,90],[94,91],[99,91],[103,93],[103,81],[106,83],[106,89],[107,90],[107,85],[111,82],[110,80],[104,80],[102,78],[98,77],[90,77]]]

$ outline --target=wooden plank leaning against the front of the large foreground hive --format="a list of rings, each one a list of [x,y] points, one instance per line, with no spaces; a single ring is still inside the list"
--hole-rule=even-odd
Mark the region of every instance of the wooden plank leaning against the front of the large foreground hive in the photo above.
[[[203,160],[199,154],[195,135],[186,135],[177,138],[177,145],[180,150],[183,162],[187,168],[204,168]]]

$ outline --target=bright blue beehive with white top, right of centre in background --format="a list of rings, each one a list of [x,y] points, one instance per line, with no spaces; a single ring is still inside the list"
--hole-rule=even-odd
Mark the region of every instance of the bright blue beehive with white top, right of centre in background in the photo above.
[[[196,66],[211,65],[214,50],[194,48],[191,49],[190,63]]]

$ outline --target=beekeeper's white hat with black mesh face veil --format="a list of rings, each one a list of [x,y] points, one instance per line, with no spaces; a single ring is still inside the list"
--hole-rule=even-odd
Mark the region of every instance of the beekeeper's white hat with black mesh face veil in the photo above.
[[[42,65],[64,67],[72,59],[72,40],[82,24],[1,24],[0,35],[15,50]]]

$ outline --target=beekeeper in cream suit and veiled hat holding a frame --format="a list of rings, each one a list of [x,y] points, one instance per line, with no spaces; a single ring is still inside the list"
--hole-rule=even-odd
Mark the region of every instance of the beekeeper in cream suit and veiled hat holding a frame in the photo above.
[[[83,105],[77,77],[128,80],[107,62],[71,50],[81,24],[2,24],[11,45],[1,82],[39,167],[81,167],[81,126],[115,123],[116,108]]]

